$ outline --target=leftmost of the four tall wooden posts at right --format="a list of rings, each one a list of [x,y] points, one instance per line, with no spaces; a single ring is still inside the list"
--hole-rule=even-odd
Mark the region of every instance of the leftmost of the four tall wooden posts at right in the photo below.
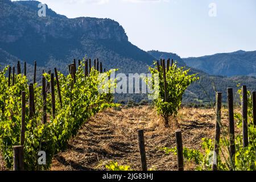
[[[216,125],[215,125],[215,137],[214,137],[214,155],[213,154],[213,164],[212,169],[213,171],[217,171],[217,164],[218,164],[218,149],[219,149],[219,143],[220,143],[220,133],[221,133],[221,99],[222,99],[222,93],[217,92],[216,94]],[[216,163],[214,164],[214,158],[216,157]]]

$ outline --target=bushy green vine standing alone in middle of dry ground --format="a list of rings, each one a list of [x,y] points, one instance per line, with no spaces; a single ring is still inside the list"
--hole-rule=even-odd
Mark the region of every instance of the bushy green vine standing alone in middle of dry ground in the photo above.
[[[177,67],[176,63],[170,67],[168,71],[166,71],[166,92],[167,92],[167,101],[164,101],[164,78],[163,78],[163,68],[159,66],[160,72],[158,72],[158,68],[156,62],[154,63],[155,67],[149,67],[149,70],[152,74],[152,78],[145,79],[147,84],[150,85],[154,83],[155,74],[159,76],[159,97],[154,100],[154,104],[156,106],[156,111],[159,115],[166,121],[166,125],[168,125],[168,118],[171,115],[176,115],[177,111],[181,105],[182,96],[188,86],[193,82],[199,79],[196,77],[196,74],[189,75],[189,69],[185,69],[185,67]],[[154,88],[153,88],[154,89]],[[157,94],[157,93],[153,93]],[[151,94],[152,95],[152,94]]]

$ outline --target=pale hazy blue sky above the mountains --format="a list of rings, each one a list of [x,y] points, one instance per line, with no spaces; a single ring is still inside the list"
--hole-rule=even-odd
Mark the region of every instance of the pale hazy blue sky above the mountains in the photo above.
[[[156,49],[190,57],[256,50],[255,0],[40,2],[68,18],[114,19],[125,29],[129,41],[145,51]]]

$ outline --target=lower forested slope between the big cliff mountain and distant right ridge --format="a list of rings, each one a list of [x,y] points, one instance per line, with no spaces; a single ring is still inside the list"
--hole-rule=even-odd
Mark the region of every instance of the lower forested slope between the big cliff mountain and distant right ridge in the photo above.
[[[185,66],[190,69],[191,74],[197,73],[200,80],[192,83],[183,95],[183,104],[186,105],[201,105],[210,104],[215,101],[215,93],[222,92],[222,101],[226,102],[226,88],[234,89],[234,98],[236,102],[240,102],[240,98],[237,94],[239,87],[237,85],[246,85],[250,91],[256,90],[256,78],[253,76],[211,76],[204,71],[197,69],[193,64],[186,64],[187,59],[182,59],[175,53],[160,52],[160,51],[148,51],[156,60],[171,59],[177,60],[177,65]]]

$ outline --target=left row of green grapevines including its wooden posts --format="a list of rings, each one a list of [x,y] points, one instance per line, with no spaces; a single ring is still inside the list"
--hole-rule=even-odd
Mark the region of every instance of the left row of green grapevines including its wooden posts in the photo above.
[[[1,71],[0,145],[7,168],[48,169],[53,155],[67,147],[88,118],[115,106],[112,94],[98,93],[102,65],[99,71],[99,62],[92,68],[89,61],[89,68],[88,61],[79,61],[76,67],[74,60],[68,76],[56,68],[55,76],[43,73],[42,86],[28,84],[26,64],[24,74],[19,63],[17,74],[15,68],[11,73],[10,67]],[[5,77],[7,74],[9,77]],[[47,154],[45,165],[38,164],[39,151]]]

